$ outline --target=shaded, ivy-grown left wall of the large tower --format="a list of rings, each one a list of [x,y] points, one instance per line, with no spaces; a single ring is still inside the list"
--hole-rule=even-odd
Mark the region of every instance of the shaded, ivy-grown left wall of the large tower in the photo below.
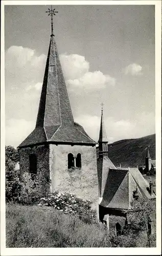
[[[19,149],[20,178],[25,179],[27,188],[30,184],[28,180],[30,177],[30,154],[37,156],[36,179],[39,181],[37,187],[45,195],[50,191],[49,146],[39,145]]]

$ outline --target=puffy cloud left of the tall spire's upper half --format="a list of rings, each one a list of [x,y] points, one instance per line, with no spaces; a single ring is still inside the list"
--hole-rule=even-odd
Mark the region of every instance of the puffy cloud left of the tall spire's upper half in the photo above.
[[[11,46],[5,53],[6,86],[26,87],[42,81],[46,56],[22,46]]]

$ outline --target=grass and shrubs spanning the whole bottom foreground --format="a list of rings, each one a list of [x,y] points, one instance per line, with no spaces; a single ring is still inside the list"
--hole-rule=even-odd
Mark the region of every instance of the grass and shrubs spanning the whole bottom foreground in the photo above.
[[[149,214],[155,212],[146,202],[143,209],[146,216],[148,209]],[[51,206],[9,203],[6,205],[6,247],[155,247],[156,235],[150,235],[148,240],[144,218],[136,210],[133,218],[134,214],[138,218],[131,222],[129,216],[130,225],[116,237],[101,222],[87,223],[77,215],[64,214]]]

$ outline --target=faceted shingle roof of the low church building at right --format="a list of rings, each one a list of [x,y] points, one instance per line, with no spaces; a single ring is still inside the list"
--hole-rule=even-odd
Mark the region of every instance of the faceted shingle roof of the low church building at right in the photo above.
[[[129,209],[135,189],[143,197],[155,198],[154,194],[150,195],[149,183],[137,168],[109,169],[101,205],[108,208]]]

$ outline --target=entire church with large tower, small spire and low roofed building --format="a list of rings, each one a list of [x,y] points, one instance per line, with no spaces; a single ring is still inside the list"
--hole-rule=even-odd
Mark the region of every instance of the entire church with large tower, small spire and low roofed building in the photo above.
[[[53,17],[54,10],[49,10]],[[155,199],[152,183],[137,168],[117,169],[108,158],[108,140],[103,109],[97,142],[73,119],[66,84],[53,32],[44,71],[34,131],[18,146],[20,177],[39,181],[44,195],[50,191],[76,194],[92,201],[99,218],[109,219],[109,228],[125,223],[123,209],[130,209],[134,197]],[[118,220],[118,221],[117,221]]]

